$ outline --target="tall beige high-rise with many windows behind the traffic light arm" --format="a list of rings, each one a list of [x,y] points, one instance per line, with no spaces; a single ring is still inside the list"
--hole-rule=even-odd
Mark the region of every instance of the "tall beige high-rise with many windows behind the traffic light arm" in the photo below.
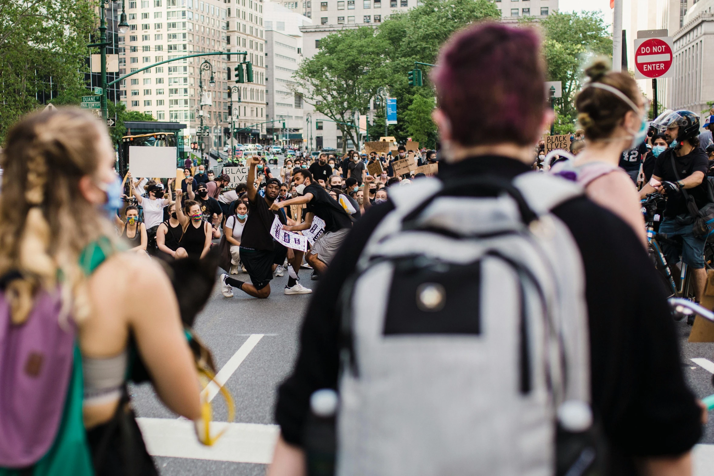
[[[130,29],[119,37],[120,74],[178,56],[228,51],[232,46],[228,46],[227,34],[231,16],[233,25],[237,23],[236,28],[241,28],[241,34],[236,31],[232,35],[231,44],[236,45],[232,46],[233,51],[237,50],[237,37],[241,37],[241,44],[248,44],[246,37],[254,38],[253,42],[257,43],[263,34],[258,2],[246,1],[249,2],[247,7],[242,5],[242,0],[241,4],[233,5],[219,0],[126,1]],[[250,15],[246,9],[251,10]],[[246,15],[245,21],[241,14]],[[240,21],[238,15],[241,15]],[[257,46],[255,51],[257,54]],[[251,52],[248,59],[253,59],[256,83],[241,85],[246,86],[243,98],[250,98],[243,103],[248,108],[253,102],[257,105],[258,90],[264,90],[258,83],[263,77],[261,62],[255,61],[254,56]],[[224,55],[197,56],[146,69],[121,81],[122,101],[129,110],[149,113],[159,121],[185,123],[184,147],[196,140],[196,130],[203,118],[204,129],[208,127],[211,133],[203,141],[210,148],[219,148],[226,142],[224,133],[228,133],[228,86],[235,84],[229,81],[228,66],[235,63],[236,57],[231,56],[231,60],[229,63]],[[201,101],[201,91],[204,101]],[[252,108],[255,110],[256,106]]]

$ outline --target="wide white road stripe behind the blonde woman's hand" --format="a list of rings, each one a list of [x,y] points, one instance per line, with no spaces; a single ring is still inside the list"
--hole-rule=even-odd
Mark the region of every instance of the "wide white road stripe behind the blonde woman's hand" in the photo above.
[[[137,418],[146,450],[152,456],[192,458],[267,465],[273,459],[278,425],[212,422],[211,431],[228,427],[213,446],[201,445],[193,422],[173,418]]]

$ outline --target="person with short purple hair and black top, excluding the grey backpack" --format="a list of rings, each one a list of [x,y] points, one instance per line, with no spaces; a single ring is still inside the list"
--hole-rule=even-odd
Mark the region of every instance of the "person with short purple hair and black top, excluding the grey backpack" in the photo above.
[[[474,24],[452,36],[437,64],[431,76],[438,96],[433,119],[441,136],[443,161],[448,163],[438,175],[444,188],[466,178],[513,181],[529,173],[533,148],[553,117],[545,106],[545,66],[536,31]],[[430,182],[433,186],[433,179],[415,181],[409,189]],[[486,188],[471,188],[464,187],[463,193],[494,196]],[[306,312],[295,367],[278,389],[275,416],[281,435],[268,476],[306,474],[305,448],[314,447],[306,437],[306,425],[318,415],[316,410],[311,414],[311,395],[340,388],[344,331],[338,296],[357,273],[373,231],[397,206],[391,197],[375,204],[353,226],[321,276]],[[690,475],[690,450],[702,433],[702,410],[685,385],[667,296],[643,246],[622,218],[584,194],[555,206],[550,217],[568,228],[582,258],[583,275],[578,279],[584,281],[583,305],[588,311],[590,403],[608,453],[606,462],[598,461],[598,474]],[[430,383],[424,385],[426,390]],[[354,399],[343,403],[360,405]],[[425,421],[433,424],[434,417],[429,413]],[[374,426],[378,422],[361,425],[356,431],[362,437],[381,440]],[[433,428],[425,424],[423,431]],[[512,450],[513,457],[519,457],[516,442]],[[397,457],[389,448],[383,455]],[[407,463],[389,460],[389,467],[396,470],[390,474],[402,474],[398,468]],[[431,467],[431,472],[420,474],[464,474],[455,470],[457,464],[454,460],[453,467]],[[341,472],[350,471],[341,467]],[[466,473],[488,474],[478,465]]]

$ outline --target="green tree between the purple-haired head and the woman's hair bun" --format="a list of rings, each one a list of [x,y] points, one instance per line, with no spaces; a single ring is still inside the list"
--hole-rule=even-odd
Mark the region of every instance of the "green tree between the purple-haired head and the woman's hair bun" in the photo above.
[[[532,19],[524,19],[529,23]],[[555,132],[575,131],[575,93],[582,86],[583,70],[590,56],[612,56],[613,41],[597,11],[555,12],[540,21],[543,55],[548,67],[546,81],[560,81],[563,97],[555,100]]]

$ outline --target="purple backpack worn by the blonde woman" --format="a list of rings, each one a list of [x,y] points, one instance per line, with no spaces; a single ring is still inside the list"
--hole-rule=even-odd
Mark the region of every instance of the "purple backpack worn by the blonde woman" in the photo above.
[[[59,293],[37,293],[14,325],[0,292],[0,467],[26,467],[49,450],[72,373],[74,323],[59,323]]]

